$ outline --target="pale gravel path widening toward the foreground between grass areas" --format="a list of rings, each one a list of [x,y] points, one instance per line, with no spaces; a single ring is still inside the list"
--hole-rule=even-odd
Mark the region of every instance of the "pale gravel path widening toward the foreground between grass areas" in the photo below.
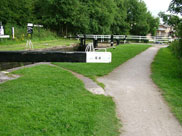
[[[158,49],[151,47],[98,79],[116,102],[121,136],[182,136],[182,127],[150,78]]]

